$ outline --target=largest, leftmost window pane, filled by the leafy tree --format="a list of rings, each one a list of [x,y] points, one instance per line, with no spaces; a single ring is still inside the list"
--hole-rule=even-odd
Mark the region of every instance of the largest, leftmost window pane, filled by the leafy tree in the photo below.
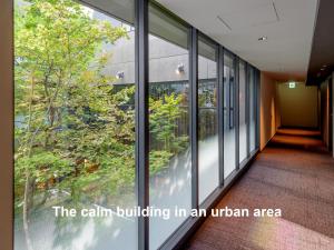
[[[18,1],[14,26],[14,249],[137,249],[115,216],[137,200],[134,27],[70,0]]]

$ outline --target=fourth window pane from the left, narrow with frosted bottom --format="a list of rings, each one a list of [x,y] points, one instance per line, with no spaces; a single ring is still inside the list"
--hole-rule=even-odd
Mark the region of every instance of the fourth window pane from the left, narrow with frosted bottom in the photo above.
[[[235,143],[235,59],[224,53],[224,178],[226,179],[236,168]]]

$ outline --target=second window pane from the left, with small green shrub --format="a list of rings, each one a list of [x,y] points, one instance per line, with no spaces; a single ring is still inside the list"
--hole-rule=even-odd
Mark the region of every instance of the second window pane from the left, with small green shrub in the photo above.
[[[149,201],[170,218],[149,219],[150,249],[184,222],[191,209],[188,29],[149,7]]]

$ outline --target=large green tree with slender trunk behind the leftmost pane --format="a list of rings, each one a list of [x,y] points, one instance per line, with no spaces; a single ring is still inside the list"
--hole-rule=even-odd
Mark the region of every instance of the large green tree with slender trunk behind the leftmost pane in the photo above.
[[[22,203],[27,247],[32,249],[28,217],[36,191],[69,174],[75,180],[61,184],[97,178],[88,174],[102,161],[94,146],[134,141],[132,110],[118,108],[134,88],[111,94],[114,79],[102,74],[109,57],[102,44],[126,37],[122,28],[91,19],[70,0],[31,0],[23,10],[16,8],[14,17],[16,116],[21,118],[16,127],[16,201]],[[106,142],[115,131],[116,146]],[[81,154],[88,141],[91,147]]]

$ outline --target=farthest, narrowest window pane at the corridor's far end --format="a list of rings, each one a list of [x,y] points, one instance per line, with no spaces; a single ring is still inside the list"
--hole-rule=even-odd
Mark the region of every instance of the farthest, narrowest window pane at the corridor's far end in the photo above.
[[[249,149],[255,150],[255,72],[249,68]]]

